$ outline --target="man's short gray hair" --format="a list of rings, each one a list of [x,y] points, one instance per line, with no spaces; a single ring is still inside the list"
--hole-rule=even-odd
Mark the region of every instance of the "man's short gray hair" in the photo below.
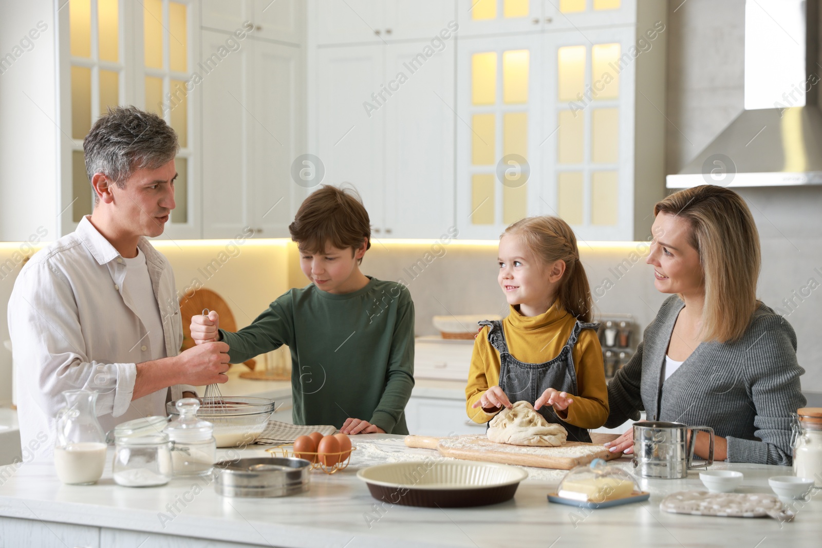
[[[177,155],[177,133],[163,118],[136,107],[109,108],[83,140],[89,182],[103,173],[120,188],[138,169],[156,169]],[[98,197],[95,193],[95,204]]]

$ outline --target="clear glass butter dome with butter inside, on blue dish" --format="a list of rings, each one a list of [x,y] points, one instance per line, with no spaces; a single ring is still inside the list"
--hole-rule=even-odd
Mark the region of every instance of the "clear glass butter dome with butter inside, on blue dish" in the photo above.
[[[589,464],[571,469],[562,478],[556,495],[581,502],[604,503],[641,493],[635,478],[625,470],[594,458]]]

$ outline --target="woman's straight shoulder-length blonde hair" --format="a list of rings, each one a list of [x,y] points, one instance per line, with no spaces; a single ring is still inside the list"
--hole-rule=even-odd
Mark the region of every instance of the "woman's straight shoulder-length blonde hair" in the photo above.
[[[660,213],[690,225],[690,245],[700,254],[705,286],[702,340],[741,338],[759,306],[761,260],[760,234],[745,200],[727,188],[701,185],[657,202],[653,216]]]

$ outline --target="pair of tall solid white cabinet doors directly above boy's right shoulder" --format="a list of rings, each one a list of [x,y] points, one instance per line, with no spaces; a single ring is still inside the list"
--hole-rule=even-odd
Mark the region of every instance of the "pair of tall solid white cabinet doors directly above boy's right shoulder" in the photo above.
[[[426,48],[429,49],[426,49]],[[455,42],[316,50],[322,182],[350,183],[374,237],[440,237],[454,224]]]

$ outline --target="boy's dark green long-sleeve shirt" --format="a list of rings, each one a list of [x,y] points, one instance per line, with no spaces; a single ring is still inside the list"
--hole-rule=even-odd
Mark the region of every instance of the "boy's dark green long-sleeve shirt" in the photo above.
[[[289,346],[294,424],[339,428],[356,417],[389,434],[408,434],[413,323],[408,289],[371,278],[344,295],[313,283],[291,289],[252,325],[219,333],[232,363]]]

